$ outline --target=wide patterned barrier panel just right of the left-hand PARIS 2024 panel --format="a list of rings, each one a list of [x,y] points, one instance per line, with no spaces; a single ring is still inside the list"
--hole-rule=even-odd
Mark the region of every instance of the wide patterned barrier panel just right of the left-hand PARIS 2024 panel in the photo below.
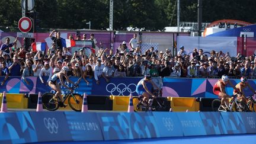
[[[151,113],[97,113],[105,140],[159,137]]]

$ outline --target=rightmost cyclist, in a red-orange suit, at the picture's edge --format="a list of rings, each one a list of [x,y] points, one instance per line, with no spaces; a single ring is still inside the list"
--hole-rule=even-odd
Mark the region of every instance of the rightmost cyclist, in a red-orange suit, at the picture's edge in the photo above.
[[[244,92],[244,88],[249,88],[252,92],[254,92],[256,94],[256,92],[254,91],[254,89],[251,87],[251,85],[249,85],[249,83],[247,82],[247,77],[242,76],[241,77],[241,82],[239,82],[235,87],[237,89],[239,89],[239,91],[241,91],[241,94],[239,94],[238,91],[236,91],[235,89],[233,90],[233,95],[238,95],[237,99],[241,100],[242,102],[244,102],[245,104],[247,103],[247,98],[245,97],[245,92]]]

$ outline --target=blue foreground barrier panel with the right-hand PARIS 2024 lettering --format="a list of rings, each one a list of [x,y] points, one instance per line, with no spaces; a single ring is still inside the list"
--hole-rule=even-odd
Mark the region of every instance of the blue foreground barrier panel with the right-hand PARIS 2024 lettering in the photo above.
[[[200,113],[177,113],[183,129],[184,136],[201,136],[206,135],[203,121],[201,121]]]

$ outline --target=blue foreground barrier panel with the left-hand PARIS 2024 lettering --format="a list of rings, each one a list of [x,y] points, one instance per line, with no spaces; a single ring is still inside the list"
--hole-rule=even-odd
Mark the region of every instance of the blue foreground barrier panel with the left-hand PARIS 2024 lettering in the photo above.
[[[104,140],[95,113],[65,112],[73,140]]]

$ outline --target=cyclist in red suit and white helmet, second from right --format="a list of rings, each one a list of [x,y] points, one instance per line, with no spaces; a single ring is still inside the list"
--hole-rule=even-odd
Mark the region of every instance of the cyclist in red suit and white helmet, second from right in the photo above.
[[[228,108],[227,106],[229,105],[229,101],[228,101],[227,98],[231,98],[231,96],[228,95],[228,94],[226,93],[226,91],[225,91],[225,87],[226,87],[228,84],[231,85],[231,87],[233,87],[233,89],[236,89],[236,91],[239,92],[239,89],[237,89],[237,88],[231,83],[231,81],[229,81],[229,78],[228,78],[227,75],[222,75],[222,78],[219,79],[219,80],[215,83],[215,85],[213,86],[213,93],[216,94],[216,95],[218,95],[218,96],[221,98],[221,104],[220,104],[220,105],[221,105],[221,108],[222,108],[223,110],[225,110],[225,109]],[[225,105],[225,103],[226,103],[226,105]]]

